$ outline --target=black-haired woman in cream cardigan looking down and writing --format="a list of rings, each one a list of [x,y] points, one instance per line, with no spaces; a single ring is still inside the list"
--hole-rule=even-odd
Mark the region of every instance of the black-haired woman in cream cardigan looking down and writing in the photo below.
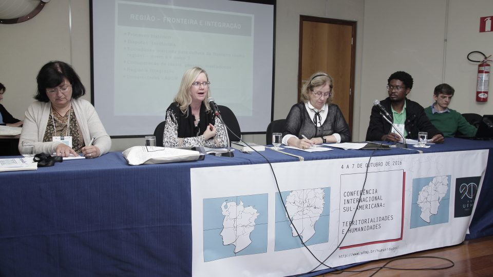
[[[84,85],[72,67],[54,61],[37,74],[37,94],[26,111],[19,150],[24,141],[34,145],[35,153],[58,156],[99,157],[109,151],[111,139],[98,113],[86,100]]]

